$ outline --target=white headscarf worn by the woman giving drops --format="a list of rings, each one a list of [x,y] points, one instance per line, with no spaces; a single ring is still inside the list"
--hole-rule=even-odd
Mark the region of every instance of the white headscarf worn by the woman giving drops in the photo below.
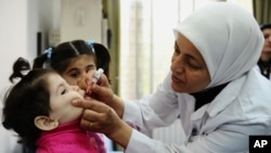
[[[203,55],[211,79],[207,88],[236,79],[251,69],[264,40],[253,14],[227,2],[197,10],[175,28],[176,36],[178,33]]]

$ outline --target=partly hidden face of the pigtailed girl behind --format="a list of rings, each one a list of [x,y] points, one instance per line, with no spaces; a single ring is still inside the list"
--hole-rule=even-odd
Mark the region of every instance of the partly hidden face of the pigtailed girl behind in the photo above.
[[[94,58],[83,54],[73,59],[62,77],[69,84],[76,86],[87,75],[93,75],[96,72]]]

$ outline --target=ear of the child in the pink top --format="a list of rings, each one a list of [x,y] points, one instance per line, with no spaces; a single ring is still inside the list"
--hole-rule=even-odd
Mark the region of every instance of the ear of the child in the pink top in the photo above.
[[[35,117],[35,125],[41,130],[52,130],[59,126],[59,122],[48,116],[37,116]]]

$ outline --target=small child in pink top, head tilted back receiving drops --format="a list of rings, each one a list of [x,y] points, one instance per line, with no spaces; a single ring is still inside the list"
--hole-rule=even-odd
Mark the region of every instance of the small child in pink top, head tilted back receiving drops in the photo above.
[[[5,94],[4,128],[13,129],[20,142],[37,153],[104,152],[96,145],[94,133],[79,127],[82,109],[70,104],[82,100],[86,92],[51,69],[37,68],[24,76],[22,71],[27,67],[22,58],[14,63],[10,80],[21,80]]]

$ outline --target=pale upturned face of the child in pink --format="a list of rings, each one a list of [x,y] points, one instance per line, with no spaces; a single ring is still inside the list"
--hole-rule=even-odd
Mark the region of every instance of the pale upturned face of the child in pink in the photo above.
[[[53,74],[48,77],[50,91],[50,118],[60,124],[76,120],[82,114],[81,107],[72,105],[73,100],[82,100],[85,91],[77,86],[70,86],[60,75]]]

